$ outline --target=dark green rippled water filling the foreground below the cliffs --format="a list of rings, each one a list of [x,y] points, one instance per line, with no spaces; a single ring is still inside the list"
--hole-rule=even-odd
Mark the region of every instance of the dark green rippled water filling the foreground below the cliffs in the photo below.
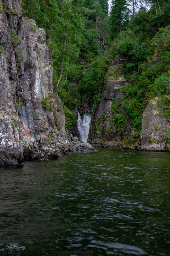
[[[168,153],[100,149],[0,172],[0,255],[170,255]]]

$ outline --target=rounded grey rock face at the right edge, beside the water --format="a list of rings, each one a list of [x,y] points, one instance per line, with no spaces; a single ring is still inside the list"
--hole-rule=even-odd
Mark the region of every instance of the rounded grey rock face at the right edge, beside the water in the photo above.
[[[170,152],[170,122],[167,122],[157,107],[158,98],[146,107],[142,119],[141,149]]]

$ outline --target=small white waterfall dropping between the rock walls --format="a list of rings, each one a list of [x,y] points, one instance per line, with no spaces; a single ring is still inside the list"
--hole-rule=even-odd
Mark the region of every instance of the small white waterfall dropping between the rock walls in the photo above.
[[[81,118],[80,113],[78,113],[77,127],[80,133],[80,140],[83,142],[87,142],[89,129],[90,129],[90,121],[92,114],[84,114],[83,118]]]

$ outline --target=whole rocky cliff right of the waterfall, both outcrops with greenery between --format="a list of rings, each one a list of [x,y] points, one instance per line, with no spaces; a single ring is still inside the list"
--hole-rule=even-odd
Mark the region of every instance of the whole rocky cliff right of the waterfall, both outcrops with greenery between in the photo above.
[[[122,73],[124,60],[118,56],[109,67],[103,97],[92,116],[88,142],[98,147],[169,152],[170,122],[161,114],[158,98],[144,109],[141,134],[136,132],[124,113],[124,93],[121,90],[127,86]]]

